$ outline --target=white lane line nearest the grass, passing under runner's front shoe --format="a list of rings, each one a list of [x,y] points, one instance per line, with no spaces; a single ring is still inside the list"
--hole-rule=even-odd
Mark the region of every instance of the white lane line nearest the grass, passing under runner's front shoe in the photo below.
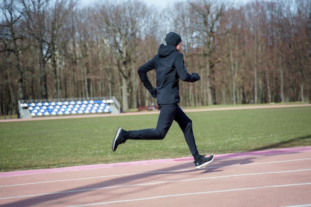
[[[272,163],[282,163],[282,162],[294,162],[294,161],[302,161],[302,160],[309,160],[309,159],[311,159],[311,158],[283,160],[283,161],[274,161],[274,162],[248,163],[248,164],[242,164],[242,165],[238,164],[238,165],[227,165],[227,166],[211,166],[211,167],[205,167],[203,169],[224,168],[224,167],[241,167],[241,166],[247,166],[247,165],[262,165],[262,164],[272,164]],[[4,185],[4,186],[0,186],[0,188],[14,187],[14,186],[24,186],[24,185],[35,185],[35,184],[42,184],[42,183],[53,183],[53,182],[66,182],[66,181],[77,181],[77,180],[108,178],[108,177],[144,175],[144,174],[157,174],[157,173],[170,173],[170,172],[187,171],[187,170],[195,171],[194,168],[186,168],[186,169],[179,169],[179,170],[166,170],[166,171],[154,171],[154,172],[143,172],[143,173],[132,173],[132,174],[105,175],[105,176],[97,176],[97,177],[89,177],[89,178],[76,178],[76,179],[42,181],[42,182],[35,182],[35,183],[22,183],[22,184],[14,184],[14,185]]]

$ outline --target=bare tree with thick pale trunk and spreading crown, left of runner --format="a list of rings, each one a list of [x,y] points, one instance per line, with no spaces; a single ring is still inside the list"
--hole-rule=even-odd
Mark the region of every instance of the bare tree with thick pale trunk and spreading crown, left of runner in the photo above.
[[[95,15],[100,16],[103,35],[112,46],[112,54],[121,75],[122,106],[127,111],[131,66],[136,60],[141,29],[148,15],[147,7],[142,1],[131,0],[126,4],[108,1],[97,5],[97,8]]]

